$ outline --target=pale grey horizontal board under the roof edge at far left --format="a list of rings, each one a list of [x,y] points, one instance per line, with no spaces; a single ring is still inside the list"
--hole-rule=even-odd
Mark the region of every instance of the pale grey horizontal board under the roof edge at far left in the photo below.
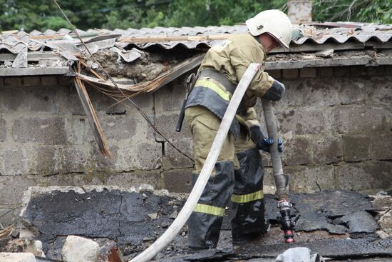
[[[0,69],[0,76],[36,76],[36,75],[63,75],[69,74],[71,70],[68,66],[61,67],[47,67],[45,69],[41,69],[39,67],[31,67],[24,69]]]

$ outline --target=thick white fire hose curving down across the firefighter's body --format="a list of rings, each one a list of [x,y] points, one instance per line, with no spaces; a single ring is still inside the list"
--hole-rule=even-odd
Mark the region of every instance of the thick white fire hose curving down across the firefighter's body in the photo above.
[[[222,145],[225,142],[227,133],[229,132],[229,128],[232,125],[232,121],[237,112],[239,103],[241,102],[245,91],[247,91],[250,82],[254,78],[254,75],[257,73],[257,71],[259,71],[260,67],[260,64],[250,64],[247,71],[245,71],[244,76],[242,76],[241,81],[239,81],[232,99],[230,99],[229,106],[227,107],[225,116],[223,116],[222,122],[217,131],[217,136],[215,136],[214,142],[212,143],[210,152],[208,153],[205,164],[202,167],[199,178],[197,178],[195,186],[193,186],[192,191],[190,192],[190,195],[188,196],[187,201],[182,207],[180,213],[178,213],[177,218],[175,218],[175,221],[173,221],[173,223],[169,226],[169,228],[167,228],[165,233],[163,233],[163,235],[157,239],[157,241],[155,241],[138,256],[130,260],[130,262],[150,261],[159,251],[165,248],[165,246],[167,246],[172,241],[182,226],[185,225],[193,209],[195,208],[197,201],[199,201],[199,198],[202,195],[202,191],[207,184],[208,178],[210,178],[210,174],[214,169],[217,158],[220,154],[220,151],[222,150]]]

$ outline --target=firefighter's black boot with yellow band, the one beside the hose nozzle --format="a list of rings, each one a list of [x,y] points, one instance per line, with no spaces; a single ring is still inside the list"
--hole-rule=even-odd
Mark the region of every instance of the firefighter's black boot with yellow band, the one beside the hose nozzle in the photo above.
[[[262,156],[257,148],[252,148],[237,153],[237,158],[240,168],[234,171],[233,243],[252,240],[269,228],[268,219],[264,216]]]

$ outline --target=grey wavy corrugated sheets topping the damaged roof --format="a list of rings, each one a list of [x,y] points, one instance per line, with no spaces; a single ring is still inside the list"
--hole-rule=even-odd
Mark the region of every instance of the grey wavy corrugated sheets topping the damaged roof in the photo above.
[[[294,45],[304,44],[324,44],[324,43],[337,43],[344,44],[346,42],[357,42],[365,44],[367,41],[376,41],[386,43],[392,41],[392,24],[360,24],[360,23],[339,23],[336,26],[350,25],[354,27],[334,27],[334,23],[321,23],[315,24],[316,26],[305,25],[300,26],[299,29],[304,33],[298,39],[292,39]],[[331,26],[331,28],[325,28]],[[320,28],[321,27],[321,28]],[[216,35],[216,34],[241,34],[247,31],[244,25],[236,26],[195,26],[195,27],[155,27],[142,28],[142,29],[89,29],[87,31],[78,30],[82,36],[86,35],[101,35],[101,34],[120,34],[123,37],[138,37],[138,36],[195,36],[203,35]],[[53,44],[51,39],[32,40],[31,36],[53,36],[70,34],[68,29],[60,29],[58,31],[46,30],[31,31],[29,34],[24,31],[19,31],[17,34],[0,34],[0,52],[9,51],[13,54],[19,52],[26,46],[29,51],[38,51],[45,46],[49,47]],[[93,36],[85,37],[86,41],[92,39]],[[198,47],[209,47],[217,44],[220,41],[170,41],[160,43],[147,43],[137,44],[140,49],[147,49],[150,46],[158,46],[163,49],[173,49],[177,46],[185,49],[196,49]],[[135,46],[135,44],[119,42],[115,43],[116,46],[126,48],[127,46]]]

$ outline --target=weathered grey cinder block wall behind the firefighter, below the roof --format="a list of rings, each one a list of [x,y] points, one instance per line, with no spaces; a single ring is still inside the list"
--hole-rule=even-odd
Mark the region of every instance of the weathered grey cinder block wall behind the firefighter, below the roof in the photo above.
[[[294,191],[392,188],[391,66],[270,71],[287,86],[276,103],[284,170]],[[175,132],[184,78],[134,99],[175,146],[192,156],[186,124]],[[192,162],[138,112],[88,89],[113,159],[100,156],[88,120],[62,76],[0,78],[0,223],[14,221],[29,186],[137,186],[190,191]],[[262,118],[261,104],[257,104]],[[273,185],[264,154],[265,184]]]

